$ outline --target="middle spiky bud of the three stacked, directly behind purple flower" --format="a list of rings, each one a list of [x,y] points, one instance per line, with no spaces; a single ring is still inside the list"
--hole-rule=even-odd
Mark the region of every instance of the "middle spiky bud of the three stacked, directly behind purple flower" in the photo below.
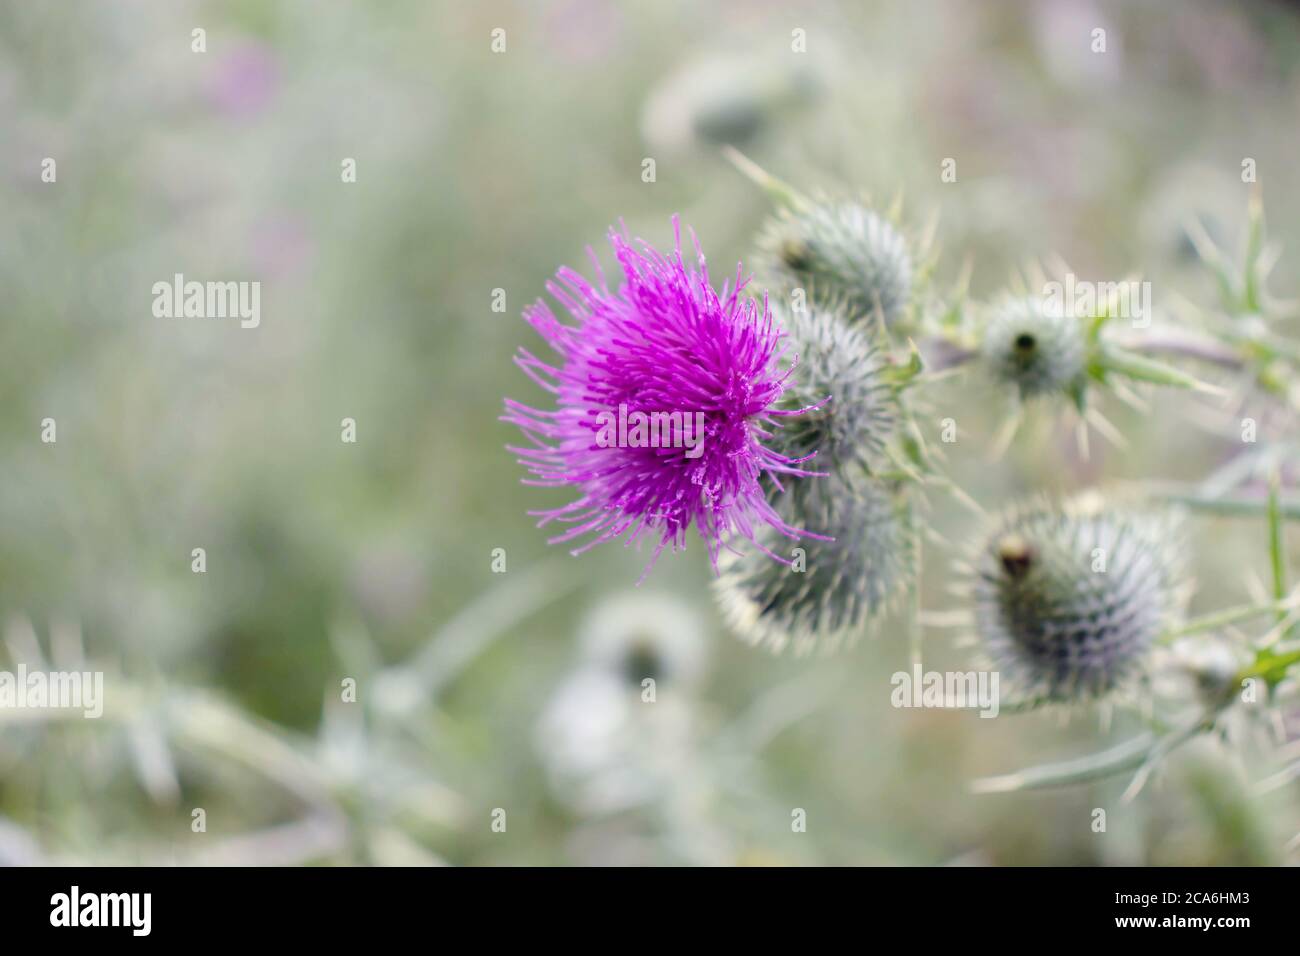
[[[790,459],[816,453],[812,471],[879,462],[898,420],[897,392],[885,380],[885,356],[861,328],[833,310],[776,311],[797,356],[794,373],[777,402],[783,411],[772,444]]]

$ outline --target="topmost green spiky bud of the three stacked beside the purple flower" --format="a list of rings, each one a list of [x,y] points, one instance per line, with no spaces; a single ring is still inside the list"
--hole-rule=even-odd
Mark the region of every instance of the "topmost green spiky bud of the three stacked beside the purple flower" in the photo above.
[[[911,299],[907,243],[883,216],[854,202],[814,202],[783,209],[759,239],[767,272],[822,304],[841,304],[854,321],[876,315],[896,324]]]

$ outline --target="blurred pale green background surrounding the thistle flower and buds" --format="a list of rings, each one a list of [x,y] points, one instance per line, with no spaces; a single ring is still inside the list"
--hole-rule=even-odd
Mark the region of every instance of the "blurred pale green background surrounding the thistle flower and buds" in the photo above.
[[[0,0],[0,659],[108,674],[101,721],[0,719],[0,860],[1286,861],[1294,787],[1248,796],[1209,741],[1122,808],[1123,780],[972,796],[1132,724],[896,710],[902,620],[751,650],[698,544],[640,589],[645,551],[549,548],[526,511],[564,497],[519,484],[497,418],[542,401],[520,311],[611,224],[663,246],[681,213],[719,278],[751,254],[766,200],[710,135],[801,189],[902,194],[940,289],[1060,255],[1160,310],[1212,303],[1183,221],[1235,242],[1243,157],[1297,291],[1297,116],[1282,3]],[[260,328],[153,317],[177,272],[260,281]],[[1108,407],[1130,447],[1088,460],[1043,416],[994,463],[1004,395],[931,406],[996,510],[1201,477],[1227,450],[1188,401]],[[978,525],[931,503],[922,601],[952,610]],[[1196,609],[1244,600],[1262,533],[1197,523]],[[615,679],[642,644],[653,708]],[[926,653],[967,661],[945,631]]]

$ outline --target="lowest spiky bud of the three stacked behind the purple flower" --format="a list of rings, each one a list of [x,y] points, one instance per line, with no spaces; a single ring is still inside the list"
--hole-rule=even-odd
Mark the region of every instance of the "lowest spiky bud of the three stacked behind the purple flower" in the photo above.
[[[906,588],[913,567],[906,506],[853,470],[792,484],[776,496],[777,509],[835,540],[792,544],[768,535],[766,544],[783,558],[793,548],[803,555],[790,564],[753,551],[731,555],[714,588],[729,627],[749,644],[831,652],[853,644]]]

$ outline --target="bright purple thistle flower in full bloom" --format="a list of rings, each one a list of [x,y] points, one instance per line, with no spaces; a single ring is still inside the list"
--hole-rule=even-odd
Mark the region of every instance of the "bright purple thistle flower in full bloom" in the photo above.
[[[797,467],[806,458],[789,458],[763,444],[771,437],[768,428],[776,425],[774,419],[805,411],[775,408],[792,371],[779,368],[785,352],[783,332],[766,295],[762,303],[741,297],[748,282],[741,265],[733,287],[728,282],[720,294],[714,291],[694,233],[698,265],[689,268],[681,258],[676,216],[672,225],[676,246],[671,256],[642,239],[634,247],[625,230],[610,230],[624,276],[616,293],[610,291],[590,250],[597,286],[567,267],[556,272],[546,290],[576,325],[562,324],[541,299],[524,311],[560,363],[549,364],[524,349],[515,362],[555,395],[556,407],[542,411],[506,399],[502,420],[519,425],[532,441],[529,447],[510,450],[534,476],[524,484],[572,485],[580,492],[563,507],[530,514],[541,515],[538,527],[572,525],[552,544],[592,536],[573,554],[624,535],[628,544],[656,536],[647,574],[664,548],[685,548],[692,523],[715,570],[720,550],[734,550],[733,538],[789,563],[755,541],[763,525],[790,538],[809,533],[776,514],[759,480],[768,472],[780,489],[780,473],[814,473]],[[628,418],[632,412],[681,412],[680,421],[703,421],[699,446],[601,441],[602,423],[610,423],[620,406]]]

